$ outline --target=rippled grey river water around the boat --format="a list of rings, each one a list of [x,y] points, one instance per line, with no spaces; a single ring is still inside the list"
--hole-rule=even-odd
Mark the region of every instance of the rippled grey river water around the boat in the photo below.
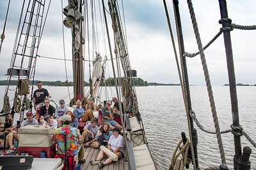
[[[58,101],[68,93],[67,87],[44,87],[49,91],[52,99]],[[0,87],[0,97],[3,99],[4,86]],[[212,113],[207,89],[205,86],[191,86],[191,103],[196,117],[200,124],[209,131],[214,130]],[[221,131],[230,129],[232,124],[232,113],[229,97],[229,87],[215,86],[212,87],[218,121]],[[115,91],[112,88],[109,91]],[[70,88],[72,92],[72,88]],[[138,103],[147,141],[156,161],[158,169],[168,169],[172,158],[173,151],[179,143],[182,131],[188,134],[188,125],[186,113],[184,110],[184,102],[182,92],[178,86],[156,86],[156,87],[136,87],[138,94]],[[9,97],[12,99],[12,92]],[[113,94],[109,94],[113,96]],[[237,87],[238,105],[239,105],[239,121],[243,126],[244,131],[256,141],[256,87]],[[69,101],[69,99],[65,99]],[[3,101],[0,101],[2,109]],[[196,124],[194,124],[196,127]],[[198,161],[201,169],[205,167],[221,164],[220,153],[216,134],[207,134],[198,127]],[[232,159],[234,155],[233,135],[229,132],[221,134],[223,146],[225,150],[225,158],[229,169],[233,169]],[[247,141],[244,136],[241,136],[242,148],[250,146],[252,154],[250,160],[252,162],[251,169],[256,169],[256,150]],[[189,169],[192,166],[190,166]]]

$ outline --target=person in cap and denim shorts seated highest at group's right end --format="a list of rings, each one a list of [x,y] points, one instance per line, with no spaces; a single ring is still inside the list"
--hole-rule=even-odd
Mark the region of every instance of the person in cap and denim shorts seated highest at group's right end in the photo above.
[[[103,123],[108,122],[110,129],[114,129],[114,127],[118,127],[121,130],[122,126],[120,126],[115,120],[113,120],[114,119],[113,109],[110,106],[111,106],[111,101],[107,101],[107,106],[104,106],[101,109]]]

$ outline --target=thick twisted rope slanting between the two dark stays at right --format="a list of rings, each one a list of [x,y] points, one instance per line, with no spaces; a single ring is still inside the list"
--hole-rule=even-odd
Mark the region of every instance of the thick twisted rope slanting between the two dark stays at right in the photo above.
[[[201,42],[201,39],[200,39],[200,34],[198,32],[198,27],[197,27],[197,23],[196,23],[193,4],[191,3],[191,0],[187,0],[187,2],[188,2],[190,17],[191,17],[192,24],[193,24],[193,29],[194,29],[195,36],[196,36],[196,43],[198,45],[198,50],[200,52],[202,66],[203,66],[203,69],[204,69],[204,76],[205,76],[205,81],[206,81],[206,85],[207,85],[209,101],[211,103],[212,117],[213,117],[213,120],[214,120],[214,127],[216,129],[216,136],[217,136],[217,139],[218,139],[218,146],[219,146],[220,155],[221,155],[221,163],[226,164],[225,152],[224,152],[224,148],[223,148],[223,144],[222,144],[222,140],[221,140],[220,125],[218,123],[218,117],[217,117],[216,107],[215,107],[215,103],[214,103],[214,97],[213,97],[213,94],[212,94],[211,81],[210,81],[210,78],[209,78],[209,72],[208,72],[208,69],[207,69],[204,50],[202,48],[202,42]]]

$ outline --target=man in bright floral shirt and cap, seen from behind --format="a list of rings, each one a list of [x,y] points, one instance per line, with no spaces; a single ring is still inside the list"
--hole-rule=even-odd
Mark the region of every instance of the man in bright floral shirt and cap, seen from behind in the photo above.
[[[70,115],[63,116],[63,126],[55,129],[52,141],[57,144],[57,153],[65,155],[65,136],[60,134],[67,134],[67,155],[75,156],[78,153],[78,164],[84,164],[83,138],[78,129],[69,125],[71,120]]]

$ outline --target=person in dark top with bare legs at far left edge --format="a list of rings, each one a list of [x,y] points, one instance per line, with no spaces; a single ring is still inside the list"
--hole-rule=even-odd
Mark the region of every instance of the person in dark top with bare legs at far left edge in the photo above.
[[[6,143],[4,146],[4,136],[6,138]],[[5,131],[4,124],[0,123],[0,148],[8,148],[10,146],[10,150],[15,150],[16,148],[13,146],[13,133],[8,133]]]

